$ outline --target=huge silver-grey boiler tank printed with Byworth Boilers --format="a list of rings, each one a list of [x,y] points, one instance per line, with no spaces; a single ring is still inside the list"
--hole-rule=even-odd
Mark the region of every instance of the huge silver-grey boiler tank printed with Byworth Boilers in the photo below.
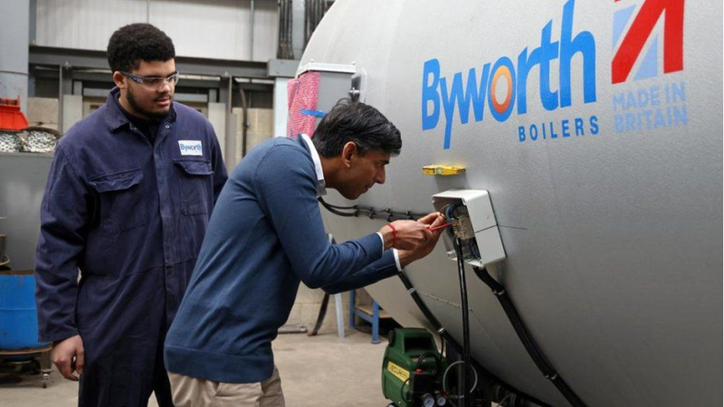
[[[403,135],[358,204],[432,212],[486,190],[507,259],[493,274],[589,406],[724,402],[724,3],[338,0],[301,65],[351,64]],[[424,175],[423,166],[465,166]],[[332,204],[348,204],[330,194]],[[383,224],[323,213],[337,241]],[[406,270],[462,342],[454,261]],[[472,356],[567,405],[471,270]],[[399,279],[370,289],[425,325]]]

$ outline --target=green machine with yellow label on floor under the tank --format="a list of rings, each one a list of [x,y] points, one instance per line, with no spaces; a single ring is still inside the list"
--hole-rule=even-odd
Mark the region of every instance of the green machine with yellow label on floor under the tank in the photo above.
[[[382,393],[397,407],[446,405],[443,373],[447,366],[429,332],[395,329],[390,332],[382,364]]]

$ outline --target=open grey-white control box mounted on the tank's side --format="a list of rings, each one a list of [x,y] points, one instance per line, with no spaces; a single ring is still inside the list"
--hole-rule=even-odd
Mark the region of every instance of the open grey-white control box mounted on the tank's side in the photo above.
[[[477,267],[505,260],[505,249],[500,239],[498,222],[492,208],[488,191],[458,189],[433,195],[433,206],[437,211],[450,211],[454,220],[452,227],[443,233],[447,255],[457,260],[454,239],[462,242],[462,256],[465,262]]]

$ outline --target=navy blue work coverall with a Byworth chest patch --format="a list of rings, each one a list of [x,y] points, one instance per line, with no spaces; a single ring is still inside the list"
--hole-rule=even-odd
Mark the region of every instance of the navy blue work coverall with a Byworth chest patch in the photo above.
[[[164,337],[226,170],[200,113],[174,102],[149,139],[118,98],[111,90],[55,151],[35,259],[39,339],[81,335],[81,406],[146,406],[152,391],[172,405]]]

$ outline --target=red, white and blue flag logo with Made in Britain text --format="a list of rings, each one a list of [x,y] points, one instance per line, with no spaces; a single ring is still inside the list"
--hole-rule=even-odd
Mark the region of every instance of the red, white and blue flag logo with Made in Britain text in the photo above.
[[[638,86],[614,91],[614,132],[686,126],[686,82],[660,75],[684,69],[684,0],[614,2],[611,83]]]

